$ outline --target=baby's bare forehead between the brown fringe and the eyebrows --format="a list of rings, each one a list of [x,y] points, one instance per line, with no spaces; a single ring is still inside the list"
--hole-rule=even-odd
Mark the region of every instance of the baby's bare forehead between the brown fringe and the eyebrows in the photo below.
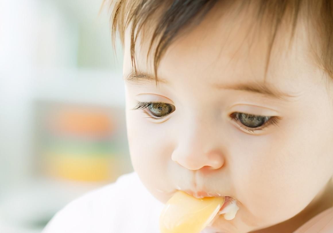
[[[311,60],[301,20],[291,43],[291,28],[282,23],[269,53],[271,30],[254,18],[254,9],[229,12],[220,16],[220,9],[214,8],[198,26],[180,34],[162,57],[158,77],[170,83],[207,85],[265,81],[289,93],[297,91],[299,82],[313,81],[313,73],[318,70]],[[124,74],[131,69],[129,38],[127,32]],[[147,35],[139,36],[137,44],[141,46],[136,46],[135,58],[140,71],[153,74],[154,53],[146,60],[149,42]],[[267,56],[270,61],[265,76]]]

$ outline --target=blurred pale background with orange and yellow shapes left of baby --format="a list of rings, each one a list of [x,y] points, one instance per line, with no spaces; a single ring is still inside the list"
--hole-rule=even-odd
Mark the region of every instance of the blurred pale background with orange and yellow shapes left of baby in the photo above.
[[[0,0],[0,232],[37,233],[133,171],[102,0]]]

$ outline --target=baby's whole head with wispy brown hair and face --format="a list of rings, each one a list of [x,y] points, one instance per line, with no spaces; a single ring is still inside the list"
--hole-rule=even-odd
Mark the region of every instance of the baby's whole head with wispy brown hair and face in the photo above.
[[[131,159],[152,195],[230,196],[236,217],[213,225],[230,233],[323,204],[333,175],[333,4],[322,2],[116,4]]]

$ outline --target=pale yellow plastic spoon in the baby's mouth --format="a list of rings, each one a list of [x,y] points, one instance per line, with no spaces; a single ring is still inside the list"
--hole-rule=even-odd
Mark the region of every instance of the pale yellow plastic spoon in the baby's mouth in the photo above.
[[[160,216],[161,233],[199,233],[213,220],[224,197],[195,198],[177,191]]]

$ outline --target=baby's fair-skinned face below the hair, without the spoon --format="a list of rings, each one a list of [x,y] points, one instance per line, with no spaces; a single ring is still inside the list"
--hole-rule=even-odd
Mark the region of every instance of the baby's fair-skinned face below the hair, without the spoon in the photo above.
[[[216,228],[249,232],[295,216],[332,177],[331,84],[312,62],[301,25],[289,50],[289,37],[277,36],[264,85],[265,33],[248,33],[253,22],[245,16],[211,17],[171,44],[158,86],[146,63],[148,43],[138,43],[141,76],[131,77],[126,34],[130,153],[160,201],[176,190],[230,196],[238,213],[230,221],[218,218]]]

